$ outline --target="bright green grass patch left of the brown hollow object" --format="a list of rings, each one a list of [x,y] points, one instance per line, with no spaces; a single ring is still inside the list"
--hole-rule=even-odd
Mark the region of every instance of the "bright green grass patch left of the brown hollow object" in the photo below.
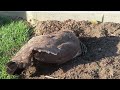
[[[30,26],[23,20],[0,17],[0,79],[16,79],[6,72],[6,63],[21,48],[31,35]]]

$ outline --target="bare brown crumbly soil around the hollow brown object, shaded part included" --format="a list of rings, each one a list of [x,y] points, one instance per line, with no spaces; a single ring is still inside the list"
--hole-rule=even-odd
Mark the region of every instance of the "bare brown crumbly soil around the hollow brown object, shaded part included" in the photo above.
[[[120,79],[120,24],[66,20],[41,21],[35,35],[49,34],[61,28],[73,30],[88,49],[84,56],[62,65],[35,61],[22,74],[24,79]]]

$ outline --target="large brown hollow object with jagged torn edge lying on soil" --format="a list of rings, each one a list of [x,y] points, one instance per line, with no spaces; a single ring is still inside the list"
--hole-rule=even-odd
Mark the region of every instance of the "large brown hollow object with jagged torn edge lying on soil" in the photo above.
[[[7,72],[9,74],[21,72],[30,65],[32,58],[44,63],[63,64],[84,52],[85,45],[71,30],[36,36],[7,63]]]

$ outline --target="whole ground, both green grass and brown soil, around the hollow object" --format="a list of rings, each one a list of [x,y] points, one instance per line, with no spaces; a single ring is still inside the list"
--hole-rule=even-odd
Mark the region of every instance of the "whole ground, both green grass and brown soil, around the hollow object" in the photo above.
[[[90,21],[42,21],[34,35],[49,34],[69,28],[88,51],[62,65],[34,61],[22,72],[22,79],[120,79],[120,24]],[[31,28],[24,21],[0,17],[0,79],[18,78],[6,73],[6,63],[31,38]]]

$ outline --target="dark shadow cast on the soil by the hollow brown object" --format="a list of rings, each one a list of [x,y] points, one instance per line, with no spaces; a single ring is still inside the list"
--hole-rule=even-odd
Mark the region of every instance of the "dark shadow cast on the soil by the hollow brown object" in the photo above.
[[[109,36],[109,37],[100,37],[100,38],[90,38],[84,37],[80,40],[86,45],[88,52],[84,56],[76,57],[74,60],[71,60],[62,65],[46,65],[36,64],[36,72],[31,75],[50,75],[54,71],[61,68],[64,72],[70,70],[71,68],[78,66],[80,64],[91,63],[94,61],[99,61],[105,57],[118,56],[117,54],[117,44],[120,42],[120,37]]]

